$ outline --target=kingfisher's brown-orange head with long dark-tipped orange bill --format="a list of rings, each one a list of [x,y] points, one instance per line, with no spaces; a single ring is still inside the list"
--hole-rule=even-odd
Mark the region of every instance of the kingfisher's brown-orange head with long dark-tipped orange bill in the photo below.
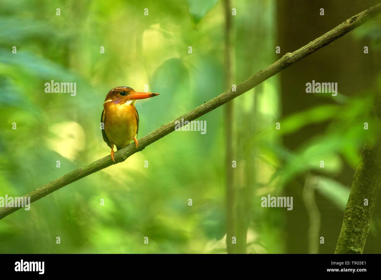
[[[114,104],[124,104],[128,102],[131,104],[135,103],[138,99],[146,99],[157,95],[159,94],[134,91],[134,89],[130,88],[129,86],[118,86],[107,93],[106,99],[104,99],[104,103],[112,102]]]

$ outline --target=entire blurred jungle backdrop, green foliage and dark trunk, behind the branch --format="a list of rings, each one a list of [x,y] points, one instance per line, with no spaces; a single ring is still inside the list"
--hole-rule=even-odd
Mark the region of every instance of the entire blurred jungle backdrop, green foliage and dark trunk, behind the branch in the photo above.
[[[232,0],[229,72],[221,0],[2,0],[0,196],[108,155],[100,116],[115,86],[160,93],[136,103],[139,139],[377,3],[350,2]],[[232,253],[333,253],[363,143],[379,132],[380,26],[372,19],[235,98],[231,158],[223,106],[200,118],[206,134],[170,133],[2,219],[0,253],[226,253],[227,230]],[[45,93],[51,80],[76,82],[77,95]],[[337,82],[338,96],[306,93],[312,80]],[[293,210],[262,208],[268,194],[293,197]],[[381,251],[380,210],[364,253]]]

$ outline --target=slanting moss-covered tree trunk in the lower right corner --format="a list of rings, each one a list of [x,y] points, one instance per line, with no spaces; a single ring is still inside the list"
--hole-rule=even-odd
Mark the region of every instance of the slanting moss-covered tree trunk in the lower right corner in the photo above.
[[[381,119],[381,96],[378,96],[376,101],[375,118]],[[344,212],[336,254],[362,253],[380,185],[381,137],[378,135],[372,143],[366,142],[361,152]]]

